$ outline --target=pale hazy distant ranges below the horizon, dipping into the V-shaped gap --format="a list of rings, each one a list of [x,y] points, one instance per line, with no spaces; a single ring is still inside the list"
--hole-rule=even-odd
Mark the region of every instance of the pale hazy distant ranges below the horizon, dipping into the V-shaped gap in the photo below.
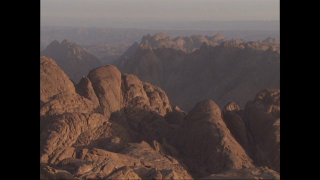
[[[135,41],[139,42],[145,34],[163,32],[171,37],[193,37],[194,34],[214,36],[223,34],[226,39],[263,40],[274,37],[279,40],[279,30],[181,30],[144,28],[97,28],[71,26],[40,26],[40,51],[53,40],[68,39],[85,51],[96,56],[102,64],[112,63]],[[174,40],[174,39],[172,39]],[[200,45],[197,44],[197,48]]]

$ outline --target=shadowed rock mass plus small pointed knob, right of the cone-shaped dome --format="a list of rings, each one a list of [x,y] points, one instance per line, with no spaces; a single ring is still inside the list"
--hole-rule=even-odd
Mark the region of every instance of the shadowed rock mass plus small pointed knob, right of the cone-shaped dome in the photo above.
[[[235,139],[256,165],[280,172],[280,90],[263,89],[241,110],[234,102],[223,117]]]

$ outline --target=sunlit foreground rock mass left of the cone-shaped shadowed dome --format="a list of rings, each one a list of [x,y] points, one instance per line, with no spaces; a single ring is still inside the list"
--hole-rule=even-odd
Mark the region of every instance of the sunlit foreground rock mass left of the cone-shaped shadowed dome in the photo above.
[[[72,82],[52,59],[41,57],[40,64],[48,59],[52,63],[41,69],[40,81],[48,92],[40,97],[46,100],[40,107],[40,162],[49,165],[41,170],[42,178],[191,178],[168,155],[174,147],[161,140],[173,133],[163,117],[171,111],[163,90],[120,74],[113,65],[93,69],[75,88],[67,88]],[[44,73],[49,68],[56,74]],[[61,92],[49,91],[47,82]],[[153,148],[144,141],[127,144],[143,139],[163,145],[155,140]]]

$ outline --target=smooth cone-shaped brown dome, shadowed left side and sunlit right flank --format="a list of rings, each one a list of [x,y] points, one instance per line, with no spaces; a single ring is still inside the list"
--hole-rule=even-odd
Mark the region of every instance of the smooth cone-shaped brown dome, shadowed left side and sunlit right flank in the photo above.
[[[252,160],[233,138],[212,100],[198,102],[173,135],[174,144],[195,175],[253,167]]]

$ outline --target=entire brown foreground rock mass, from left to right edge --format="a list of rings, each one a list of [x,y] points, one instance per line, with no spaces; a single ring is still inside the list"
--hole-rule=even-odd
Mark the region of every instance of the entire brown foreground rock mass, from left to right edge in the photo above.
[[[186,113],[171,108],[158,86],[113,65],[73,85],[41,56],[40,73],[41,179],[279,177],[270,169],[279,165],[277,90],[261,91],[240,113],[242,130],[252,134],[242,148],[245,135],[234,132],[241,123],[225,115],[241,111],[236,104],[221,114],[203,100]]]

